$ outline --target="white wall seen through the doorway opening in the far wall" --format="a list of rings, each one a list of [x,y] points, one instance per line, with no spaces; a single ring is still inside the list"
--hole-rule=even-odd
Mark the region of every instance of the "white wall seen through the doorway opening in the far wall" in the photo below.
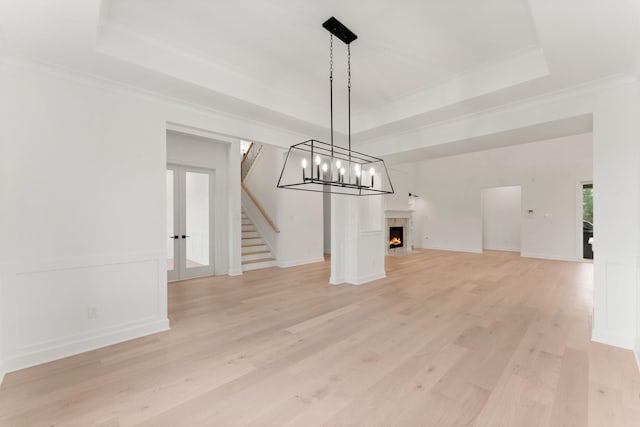
[[[482,191],[482,248],[520,252],[522,188],[494,187]]]

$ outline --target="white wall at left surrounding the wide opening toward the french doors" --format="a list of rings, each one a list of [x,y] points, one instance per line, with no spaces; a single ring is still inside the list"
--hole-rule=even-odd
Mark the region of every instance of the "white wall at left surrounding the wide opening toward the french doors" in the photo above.
[[[168,126],[282,144],[304,138],[13,59],[2,80],[0,340],[8,371],[168,327]],[[239,176],[239,143],[229,159]],[[239,266],[239,180],[229,187],[238,194],[227,210],[230,264]],[[88,319],[89,307],[97,318]]]

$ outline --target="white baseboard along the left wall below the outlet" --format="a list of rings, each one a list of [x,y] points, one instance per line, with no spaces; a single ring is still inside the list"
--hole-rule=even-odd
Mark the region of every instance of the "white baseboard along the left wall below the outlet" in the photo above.
[[[169,319],[166,318],[129,324],[117,330],[110,330],[83,339],[58,342],[48,348],[9,357],[4,361],[4,369],[6,372],[13,372],[168,329]]]

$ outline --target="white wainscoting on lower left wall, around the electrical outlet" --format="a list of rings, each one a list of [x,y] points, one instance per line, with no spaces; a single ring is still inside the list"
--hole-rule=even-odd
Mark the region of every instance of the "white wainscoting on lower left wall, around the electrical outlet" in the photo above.
[[[75,264],[8,275],[7,371],[168,329],[162,258]]]

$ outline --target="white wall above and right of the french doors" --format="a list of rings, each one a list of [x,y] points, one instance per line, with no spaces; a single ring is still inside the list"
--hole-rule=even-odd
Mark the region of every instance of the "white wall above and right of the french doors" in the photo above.
[[[188,135],[180,132],[167,132],[167,163],[195,166],[214,171],[214,263],[215,273],[228,274],[230,270],[229,230],[231,229],[228,212],[229,205],[229,147],[223,141]],[[235,171],[235,169],[234,169]],[[237,175],[234,174],[234,177]],[[239,178],[238,178],[239,179]]]

